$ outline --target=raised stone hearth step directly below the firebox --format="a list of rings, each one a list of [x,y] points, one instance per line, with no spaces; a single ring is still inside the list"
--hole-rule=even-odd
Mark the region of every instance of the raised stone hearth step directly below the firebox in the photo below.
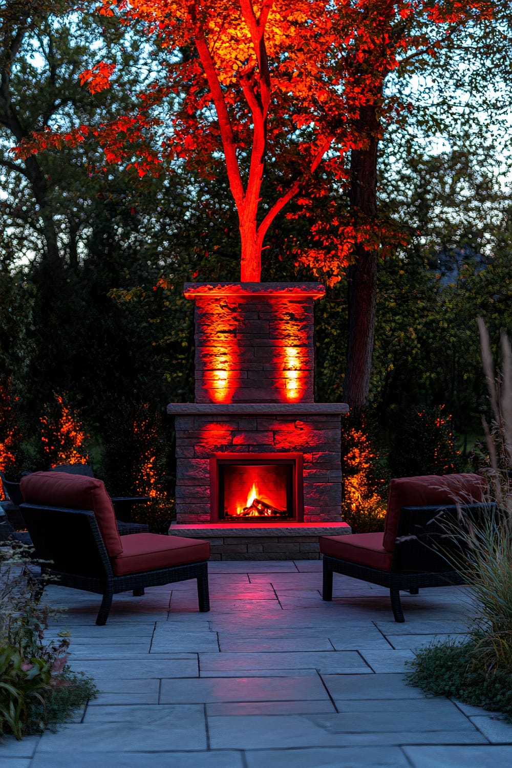
[[[258,525],[170,526],[170,536],[190,536],[210,541],[210,560],[319,560],[319,536],[351,533],[348,523],[260,523]]]

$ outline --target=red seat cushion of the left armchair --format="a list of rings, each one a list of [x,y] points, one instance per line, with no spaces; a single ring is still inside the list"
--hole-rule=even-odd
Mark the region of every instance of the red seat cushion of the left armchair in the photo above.
[[[210,541],[185,536],[136,533],[123,537],[123,552],[112,558],[116,576],[199,563],[210,557]]]

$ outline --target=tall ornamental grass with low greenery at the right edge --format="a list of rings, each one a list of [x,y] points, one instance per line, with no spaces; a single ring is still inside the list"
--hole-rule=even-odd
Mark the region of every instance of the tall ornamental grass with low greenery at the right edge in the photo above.
[[[496,376],[489,334],[478,319],[492,418],[483,419],[488,499],[496,511],[474,524],[459,516],[457,531],[467,562],[461,572],[475,598],[467,641],[441,641],[418,650],[408,682],[425,694],[454,697],[500,712],[512,722],[512,351],[501,333],[502,372]],[[462,501],[467,503],[467,500]]]

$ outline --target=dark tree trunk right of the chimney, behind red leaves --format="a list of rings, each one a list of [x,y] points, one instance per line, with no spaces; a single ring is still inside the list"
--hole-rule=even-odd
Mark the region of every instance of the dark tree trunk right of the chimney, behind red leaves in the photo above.
[[[358,219],[377,217],[377,150],[379,124],[373,104],[362,107],[357,133],[367,138],[365,149],[352,150],[350,205]],[[348,268],[348,345],[343,397],[351,408],[365,406],[370,389],[375,308],[377,297],[377,250],[364,243],[354,247],[355,263]]]

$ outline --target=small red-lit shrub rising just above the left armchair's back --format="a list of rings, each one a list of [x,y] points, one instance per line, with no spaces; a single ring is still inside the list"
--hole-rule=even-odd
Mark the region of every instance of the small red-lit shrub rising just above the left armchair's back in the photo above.
[[[43,452],[51,465],[88,464],[89,457],[83,445],[88,435],[77,412],[68,406],[65,395],[55,395],[55,402],[45,406],[40,421]]]

